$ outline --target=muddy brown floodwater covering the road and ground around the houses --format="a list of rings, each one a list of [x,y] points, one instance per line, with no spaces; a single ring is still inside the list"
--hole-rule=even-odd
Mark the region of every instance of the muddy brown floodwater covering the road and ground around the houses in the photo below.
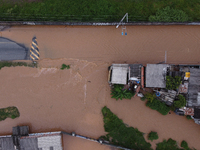
[[[2,36],[30,47],[37,37],[41,53],[38,68],[0,70],[1,107],[17,106],[21,116],[0,122],[1,134],[16,125],[30,125],[31,132],[63,130],[88,137],[104,135],[101,108],[105,105],[124,123],[144,133],[156,131],[159,139],[172,138],[200,148],[200,126],[174,113],[162,116],[139,98],[110,98],[107,68],[111,63],[199,63],[198,26],[14,26]],[[68,70],[60,70],[69,64]],[[145,134],[147,135],[147,134]],[[64,136],[66,150],[109,150],[110,147]]]

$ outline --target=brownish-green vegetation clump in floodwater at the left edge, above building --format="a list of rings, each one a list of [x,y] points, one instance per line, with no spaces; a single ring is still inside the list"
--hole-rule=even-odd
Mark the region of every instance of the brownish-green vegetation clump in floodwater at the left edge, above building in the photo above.
[[[0,109],[0,121],[5,120],[6,118],[15,119],[19,116],[20,114],[17,107],[7,107]]]

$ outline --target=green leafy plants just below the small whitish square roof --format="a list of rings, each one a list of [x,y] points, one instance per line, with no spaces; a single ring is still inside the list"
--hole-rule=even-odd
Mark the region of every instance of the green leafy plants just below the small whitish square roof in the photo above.
[[[131,99],[135,95],[133,91],[123,89],[124,85],[114,84],[114,88],[111,89],[112,98],[118,99]]]

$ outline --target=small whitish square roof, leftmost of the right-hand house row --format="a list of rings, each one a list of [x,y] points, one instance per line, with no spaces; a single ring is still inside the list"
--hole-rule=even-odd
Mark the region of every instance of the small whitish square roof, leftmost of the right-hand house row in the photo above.
[[[112,65],[112,84],[127,84],[128,64]]]

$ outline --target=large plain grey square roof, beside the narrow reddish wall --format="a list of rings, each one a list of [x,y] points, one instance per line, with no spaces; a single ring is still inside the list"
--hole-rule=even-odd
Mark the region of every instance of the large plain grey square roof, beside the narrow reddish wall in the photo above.
[[[167,64],[147,64],[146,87],[165,88],[167,67]]]

